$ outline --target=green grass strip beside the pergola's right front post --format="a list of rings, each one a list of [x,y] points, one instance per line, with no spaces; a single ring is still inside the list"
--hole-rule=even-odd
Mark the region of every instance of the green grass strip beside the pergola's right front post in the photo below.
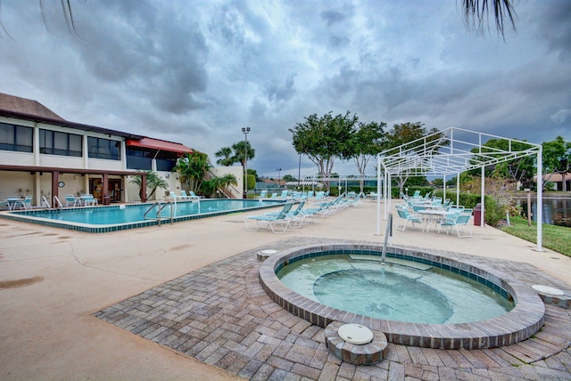
[[[511,226],[501,228],[511,235],[537,243],[537,226],[532,222],[527,226],[527,220],[523,217],[510,217]],[[563,255],[571,256],[571,228],[543,223],[542,225],[542,246],[557,251]]]

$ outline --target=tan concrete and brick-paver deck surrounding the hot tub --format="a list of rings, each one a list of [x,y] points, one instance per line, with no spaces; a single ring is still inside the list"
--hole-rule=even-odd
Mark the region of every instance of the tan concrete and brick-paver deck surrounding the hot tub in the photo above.
[[[553,305],[540,332],[503,348],[389,344],[376,366],[329,355],[323,328],[261,290],[256,256],[382,241],[376,212],[365,202],[283,235],[246,231],[243,217],[255,212],[96,235],[0,220],[0,378],[571,379],[571,310]],[[570,257],[488,226],[472,231],[459,239],[409,226],[393,243],[453,252],[571,295]],[[153,320],[138,324],[134,305]]]

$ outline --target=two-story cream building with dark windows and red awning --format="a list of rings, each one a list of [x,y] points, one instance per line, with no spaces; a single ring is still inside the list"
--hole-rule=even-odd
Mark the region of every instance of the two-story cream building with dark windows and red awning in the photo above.
[[[31,195],[32,205],[46,199],[57,206],[54,197],[90,193],[100,204],[145,201],[143,171],[180,189],[171,170],[187,152],[177,142],[70,122],[37,101],[0,93],[0,200]],[[163,191],[153,197],[163,199]]]

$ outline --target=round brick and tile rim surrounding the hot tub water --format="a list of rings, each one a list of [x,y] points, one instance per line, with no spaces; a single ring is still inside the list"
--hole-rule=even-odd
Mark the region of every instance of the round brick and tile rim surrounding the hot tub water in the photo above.
[[[515,344],[534,335],[543,326],[545,305],[533,288],[526,286],[509,274],[481,263],[459,262],[454,253],[417,247],[390,247],[387,258],[426,264],[449,271],[491,288],[515,306],[500,316],[463,323],[421,323],[401,320],[379,319],[344,308],[335,308],[302,296],[287,287],[277,277],[283,267],[297,260],[317,258],[323,255],[375,255],[380,258],[382,244],[346,244],[332,242],[328,245],[295,247],[283,250],[261,264],[259,279],[268,296],[302,319],[326,328],[334,321],[361,324],[381,331],[389,342],[399,345],[414,345],[438,349],[484,349]],[[397,289],[397,291],[400,291]],[[335,292],[335,290],[331,290]],[[361,287],[360,293],[369,289]],[[469,301],[469,300],[468,300]]]

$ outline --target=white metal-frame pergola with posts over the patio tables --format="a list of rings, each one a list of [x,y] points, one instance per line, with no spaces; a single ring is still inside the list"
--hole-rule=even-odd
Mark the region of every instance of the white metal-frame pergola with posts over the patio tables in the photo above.
[[[490,139],[505,140],[507,149],[484,146]],[[517,144],[514,144],[517,143]],[[385,221],[391,206],[391,179],[397,176],[439,176],[457,178],[456,204],[459,204],[459,174],[480,168],[482,207],[484,207],[484,168],[525,156],[537,156],[537,251],[542,251],[542,145],[518,141],[461,128],[448,128],[416,141],[407,142],[377,155],[377,234],[380,234],[380,202],[385,200]],[[385,185],[385,186],[382,186]],[[381,196],[382,195],[382,196]],[[444,186],[444,198],[446,187]],[[481,214],[484,226],[484,213]]]

